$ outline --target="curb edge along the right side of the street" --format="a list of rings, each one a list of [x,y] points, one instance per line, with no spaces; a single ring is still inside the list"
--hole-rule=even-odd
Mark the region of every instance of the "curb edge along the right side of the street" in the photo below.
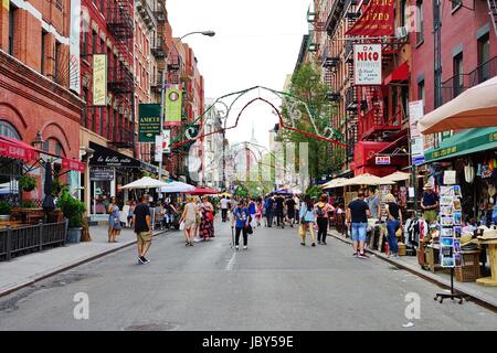
[[[345,244],[352,245],[351,240],[346,239],[346,238],[343,238],[341,236],[337,236],[334,233],[328,233],[328,235],[334,237],[337,240],[340,240],[340,242],[345,243]],[[412,266],[408,266],[405,264],[396,263],[396,261],[388,258],[387,256],[384,256],[381,253],[378,253],[376,250],[366,249],[366,252],[368,254],[374,255],[377,258],[379,258],[379,259],[381,259],[381,260],[383,260],[385,263],[389,263],[389,264],[391,264],[391,265],[393,265],[393,266],[395,266],[398,268],[402,268],[402,269],[404,269],[404,270],[406,270],[406,271],[409,271],[409,272],[411,272],[413,275],[416,275],[417,277],[423,278],[424,280],[427,280],[427,281],[430,281],[432,284],[435,284],[435,285],[437,285],[441,288],[451,289],[450,280],[436,277],[436,275],[431,276],[430,275],[431,272],[424,274],[421,270],[412,268]],[[464,288],[463,289],[462,288],[457,288],[456,284],[454,284],[454,290],[456,292],[459,292],[461,295],[463,295],[463,297],[470,298],[472,301],[474,301],[475,303],[477,303],[477,304],[479,304],[479,306],[482,306],[482,307],[484,307],[486,309],[489,309],[489,310],[491,310],[494,312],[497,312],[497,303],[488,301],[484,296],[475,293],[473,291],[468,291],[468,290],[466,290]]]

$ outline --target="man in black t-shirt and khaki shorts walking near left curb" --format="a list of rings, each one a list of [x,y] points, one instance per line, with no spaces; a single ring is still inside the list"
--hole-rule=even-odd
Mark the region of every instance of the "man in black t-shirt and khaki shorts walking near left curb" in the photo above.
[[[147,264],[149,259],[146,257],[152,238],[150,207],[148,206],[148,195],[141,196],[141,202],[135,207],[133,215],[133,224],[137,237],[138,246],[138,264]]]

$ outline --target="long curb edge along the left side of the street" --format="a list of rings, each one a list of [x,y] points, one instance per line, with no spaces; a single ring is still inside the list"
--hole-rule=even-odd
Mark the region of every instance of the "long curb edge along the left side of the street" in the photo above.
[[[160,232],[157,232],[157,233],[155,232],[154,233],[154,237],[156,237],[158,235],[167,234],[167,233],[169,233],[169,232],[168,231],[160,231]],[[72,269],[72,268],[75,268],[75,267],[78,267],[81,265],[84,265],[84,264],[91,263],[93,260],[96,260],[98,258],[102,258],[102,257],[104,257],[106,255],[110,255],[110,254],[117,253],[117,252],[119,252],[121,249],[125,249],[127,247],[130,247],[131,245],[135,245],[135,244],[136,244],[136,240],[130,240],[130,242],[127,242],[127,243],[123,243],[116,248],[108,249],[108,250],[102,252],[102,253],[96,254],[96,255],[91,255],[91,256],[88,256],[88,257],[86,257],[86,258],[84,258],[82,260],[76,261],[76,263],[65,264],[65,265],[61,265],[59,267],[55,267],[55,268],[49,270],[45,274],[41,274],[40,276],[35,277],[34,279],[30,279],[30,280],[28,280],[25,282],[17,284],[14,286],[8,287],[7,289],[2,289],[0,291],[0,298],[4,297],[4,296],[8,296],[8,295],[10,295],[10,293],[12,293],[14,291],[18,291],[19,289],[32,286],[35,282],[39,282],[39,281],[41,281],[43,279],[56,276],[59,274],[62,274],[62,272],[64,272],[66,270]]]

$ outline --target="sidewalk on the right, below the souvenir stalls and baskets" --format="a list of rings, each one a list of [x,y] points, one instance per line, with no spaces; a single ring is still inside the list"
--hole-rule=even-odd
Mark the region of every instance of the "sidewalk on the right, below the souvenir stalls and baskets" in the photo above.
[[[346,238],[335,229],[328,231],[328,235],[343,242],[347,244],[352,244],[350,238]],[[432,271],[424,270],[417,264],[417,258],[415,256],[401,256],[398,258],[388,258],[384,253],[378,250],[367,249],[368,253],[373,254],[378,258],[385,260],[390,264],[396,265],[404,268],[424,279],[436,282],[441,286],[451,288],[451,275],[444,272],[433,274]],[[454,290],[463,293],[464,296],[469,296],[473,299],[480,301],[482,303],[497,309],[497,287],[485,287],[476,282],[458,282],[454,277]],[[433,293],[435,296],[435,293]]]

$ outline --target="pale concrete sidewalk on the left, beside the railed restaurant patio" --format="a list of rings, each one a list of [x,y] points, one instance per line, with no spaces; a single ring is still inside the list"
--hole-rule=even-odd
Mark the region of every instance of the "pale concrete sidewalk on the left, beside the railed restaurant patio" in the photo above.
[[[154,235],[166,232],[156,231]],[[92,226],[89,227],[89,235],[92,242],[68,244],[41,253],[15,257],[10,261],[0,261],[0,297],[136,244],[136,235],[128,228],[123,228],[120,236],[117,238],[119,243],[114,244],[107,243],[107,226]]]

